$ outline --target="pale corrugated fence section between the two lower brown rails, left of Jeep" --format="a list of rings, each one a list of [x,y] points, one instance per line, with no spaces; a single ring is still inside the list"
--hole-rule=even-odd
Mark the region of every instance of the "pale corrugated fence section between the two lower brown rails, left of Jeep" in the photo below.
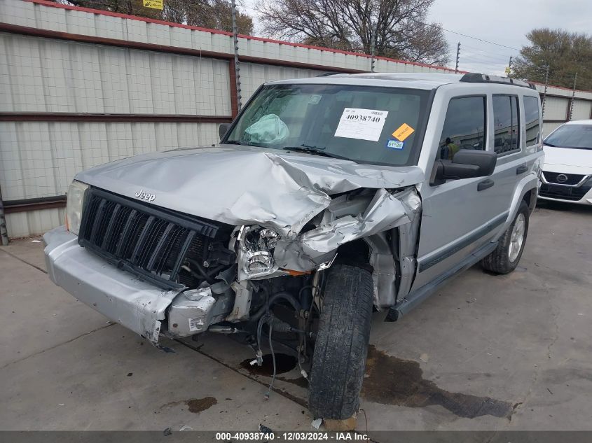
[[[64,195],[83,169],[156,150],[215,143],[214,123],[0,122],[5,200]]]

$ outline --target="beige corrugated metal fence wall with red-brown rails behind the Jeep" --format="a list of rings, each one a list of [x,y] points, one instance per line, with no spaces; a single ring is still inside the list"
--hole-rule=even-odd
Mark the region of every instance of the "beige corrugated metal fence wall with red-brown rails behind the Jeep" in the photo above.
[[[261,83],[369,71],[370,57],[240,36],[242,104]],[[378,57],[376,71],[450,72]],[[539,92],[544,87],[538,85]],[[75,8],[0,0],[0,189],[11,237],[62,223],[77,171],[138,153],[218,141],[236,115],[232,36]],[[544,132],[572,91],[549,87]],[[572,118],[589,118],[576,92]]]

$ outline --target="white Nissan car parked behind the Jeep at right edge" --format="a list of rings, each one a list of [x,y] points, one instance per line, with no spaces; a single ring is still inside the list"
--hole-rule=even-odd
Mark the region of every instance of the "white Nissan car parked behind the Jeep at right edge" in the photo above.
[[[574,120],[544,139],[539,199],[592,204],[592,120]]]

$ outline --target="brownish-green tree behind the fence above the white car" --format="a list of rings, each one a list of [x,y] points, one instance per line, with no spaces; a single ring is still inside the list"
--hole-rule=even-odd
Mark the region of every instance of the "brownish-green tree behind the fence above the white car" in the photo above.
[[[549,66],[549,84],[592,90],[592,36],[561,29],[533,29],[516,58],[511,76],[544,82]]]

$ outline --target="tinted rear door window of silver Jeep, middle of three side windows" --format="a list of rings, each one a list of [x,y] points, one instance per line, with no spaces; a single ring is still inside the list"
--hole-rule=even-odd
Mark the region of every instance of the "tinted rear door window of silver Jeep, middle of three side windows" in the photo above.
[[[520,149],[520,125],[518,124],[518,97],[516,95],[493,96],[493,122],[498,155]]]

